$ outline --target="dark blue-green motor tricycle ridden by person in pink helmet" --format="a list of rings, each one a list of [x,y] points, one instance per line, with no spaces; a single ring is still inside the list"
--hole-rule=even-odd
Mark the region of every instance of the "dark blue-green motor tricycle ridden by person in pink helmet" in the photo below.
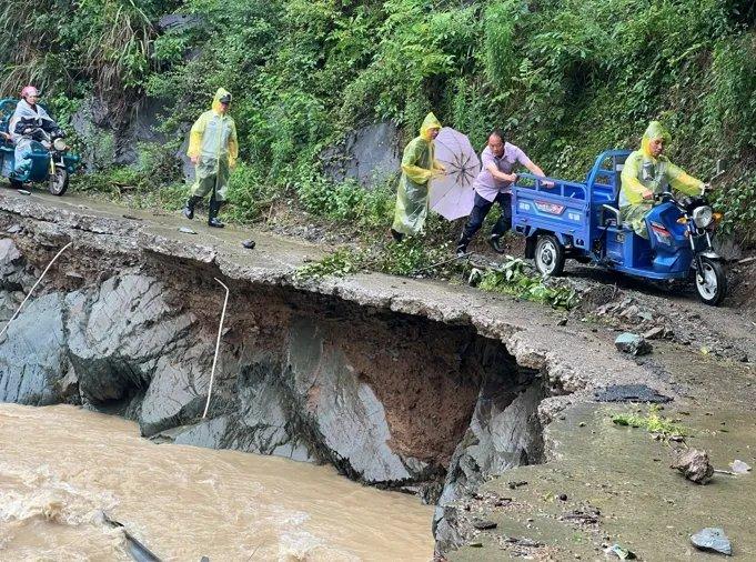
[[[53,195],[62,195],[69,185],[70,175],[77,170],[79,157],[69,151],[60,132],[42,129],[30,132],[31,165],[22,173],[16,170],[16,147],[10,140],[8,124],[18,100],[0,100],[0,175],[8,178],[11,187],[19,189],[24,183],[47,183]]]

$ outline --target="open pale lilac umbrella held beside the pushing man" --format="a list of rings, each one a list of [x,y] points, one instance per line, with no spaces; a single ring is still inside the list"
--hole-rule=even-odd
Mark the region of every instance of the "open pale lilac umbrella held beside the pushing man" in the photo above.
[[[450,221],[467,217],[475,200],[473,181],[481,171],[470,139],[444,127],[435,139],[435,158],[444,164],[446,173],[431,180],[431,209]]]

